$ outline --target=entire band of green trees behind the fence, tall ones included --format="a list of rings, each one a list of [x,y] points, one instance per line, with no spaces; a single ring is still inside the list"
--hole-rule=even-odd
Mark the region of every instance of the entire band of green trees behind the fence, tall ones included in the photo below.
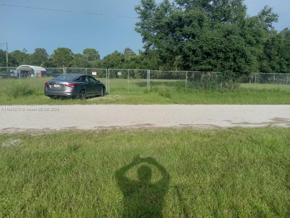
[[[23,49],[9,53],[9,66],[221,71],[229,78],[290,73],[290,30],[275,30],[279,15],[268,6],[249,16],[236,0],[141,0],[135,10],[140,18],[135,30],[144,44],[138,54],[125,48],[101,59],[94,48],[82,54],[57,48],[51,55],[44,48],[33,54]],[[5,55],[0,50],[1,66]]]

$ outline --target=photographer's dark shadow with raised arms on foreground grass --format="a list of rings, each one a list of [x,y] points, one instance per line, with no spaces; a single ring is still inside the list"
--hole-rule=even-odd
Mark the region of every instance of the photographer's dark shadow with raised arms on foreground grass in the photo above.
[[[138,180],[131,180],[126,173],[137,165],[140,165],[137,169]],[[151,167],[156,167],[161,174],[161,179],[157,182],[152,181]],[[123,218],[162,217],[164,196],[170,177],[165,168],[155,159],[137,156],[130,164],[117,170],[115,177],[123,193]]]

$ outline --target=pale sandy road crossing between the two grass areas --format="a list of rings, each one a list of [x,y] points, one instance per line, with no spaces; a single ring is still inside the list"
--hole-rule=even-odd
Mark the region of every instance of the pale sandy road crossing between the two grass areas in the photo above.
[[[58,111],[50,111],[52,107]],[[7,111],[11,108],[21,110]],[[113,127],[290,127],[290,105],[0,106],[0,117],[1,133]]]

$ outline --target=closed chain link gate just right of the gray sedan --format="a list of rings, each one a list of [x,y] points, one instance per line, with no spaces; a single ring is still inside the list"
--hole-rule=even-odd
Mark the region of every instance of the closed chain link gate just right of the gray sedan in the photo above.
[[[144,93],[147,89],[148,70],[108,70],[108,93]]]

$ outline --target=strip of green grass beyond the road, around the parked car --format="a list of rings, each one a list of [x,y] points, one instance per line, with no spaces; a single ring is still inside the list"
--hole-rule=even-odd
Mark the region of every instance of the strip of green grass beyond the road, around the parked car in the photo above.
[[[185,90],[183,80],[110,81],[110,94],[84,101],[76,99],[50,99],[43,94],[44,83],[51,78],[0,79],[0,105],[14,104],[290,104],[290,87],[279,84],[241,84],[235,91]],[[106,84],[104,78],[97,78]],[[191,87],[191,88],[190,88]],[[108,91],[107,85],[107,91]],[[132,93],[126,93],[126,92]]]

